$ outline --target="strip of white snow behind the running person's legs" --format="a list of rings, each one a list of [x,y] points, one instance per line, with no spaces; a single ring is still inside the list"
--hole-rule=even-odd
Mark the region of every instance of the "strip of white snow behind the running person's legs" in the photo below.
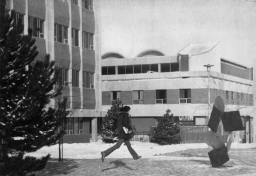
[[[204,149],[208,148],[206,143],[181,143],[173,145],[158,145],[157,143],[145,143],[132,141],[132,148],[142,156],[143,158],[156,158],[156,155],[176,152],[179,150],[187,149]],[[63,143],[63,158],[73,159],[99,159],[101,157],[100,152],[115,145],[114,143],[104,143],[102,140],[91,143]],[[36,152],[28,153],[29,156],[35,156],[40,158],[47,154],[51,154],[51,158],[58,158],[58,145],[52,145],[51,147],[42,147],[42,149]],[[231,149],[248,149],[255,148],[256,143],[232,143]],[[210,148],[210,147],[209,147]],[[164,156],[161,156],[164,157]],[[132,158],[127,147],[122,146],[111,153],[108,158]],[[157,157],[159,158],[159,157]]]

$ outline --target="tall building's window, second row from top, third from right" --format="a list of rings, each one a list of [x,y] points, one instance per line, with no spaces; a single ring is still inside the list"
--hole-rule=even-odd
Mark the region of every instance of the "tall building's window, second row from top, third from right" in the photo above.
[[[54,24],[54,41],[68,44],[68,27]]]

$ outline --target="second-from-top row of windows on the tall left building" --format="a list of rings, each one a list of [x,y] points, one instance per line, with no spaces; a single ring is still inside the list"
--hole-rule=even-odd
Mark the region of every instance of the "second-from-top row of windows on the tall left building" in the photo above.
[[[24,15],[15,12],[14,22],[17,25],[19,20],[24,24]],[[32,29],[32,36],[44,38],[44,20],[35,17],[28,17],[29,28]],[[72,45],[78,47],[79,36],[77,29],[72,28]],[[54,24],[54,41],[68,44],[68,27]],[[83,31],[82,47],[93,50],[93,34]]]

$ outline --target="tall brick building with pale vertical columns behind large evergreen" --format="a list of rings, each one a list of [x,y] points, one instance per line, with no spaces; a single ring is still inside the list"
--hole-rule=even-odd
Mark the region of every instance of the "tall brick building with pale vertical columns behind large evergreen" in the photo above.
[[[8,0],[6,11],[11,9],[16,21],[22,19],[24,34],[32,29],[39,52],[36,59],[50,54],[61,72],[57,86],[63,86],[62,96],[68,98],[67,109],[72,112],[63,141],[97,140],[100,47],[93,0]]]

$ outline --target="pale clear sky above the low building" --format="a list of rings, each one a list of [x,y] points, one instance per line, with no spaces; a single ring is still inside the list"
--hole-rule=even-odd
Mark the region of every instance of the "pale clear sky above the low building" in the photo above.
[[[251,67],[256,60],[254,0],[102,0],[102,54],[176,55],[189,43],[220,41],[221,56]]]

